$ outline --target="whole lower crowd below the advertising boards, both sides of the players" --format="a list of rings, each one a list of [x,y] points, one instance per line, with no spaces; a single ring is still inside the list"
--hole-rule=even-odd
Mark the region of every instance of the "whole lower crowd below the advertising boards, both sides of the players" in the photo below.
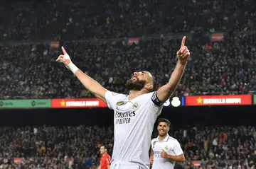
[[[1,127],[0,133],[0,168],[94,168],[100,145],[112,153],[112,127]],[[184,168],[255,167],[255,127],[185,127],[171,136],[183,148]]]

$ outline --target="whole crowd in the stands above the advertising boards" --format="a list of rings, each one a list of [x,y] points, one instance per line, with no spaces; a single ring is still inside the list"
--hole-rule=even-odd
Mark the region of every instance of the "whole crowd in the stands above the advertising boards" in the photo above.
[[[6,2],[0,10],[2,42],[12,41],[0,45],[0,97],[92,97],[55,62],[60,47],[56,51],[36,41],[43,39],[60,40],[73,62],[109,90],[124,92],[131,74],[144,69],[151,71],[161,86],[176,64],[181,40],[178,33],[189,37],[191,61],[176,95],[253,92],[254,2],[184,2],[186,5],[164,0],[112,0],[104,2],[107,5],[102,1]],[[223,42],[195,41],[198,33],[203,37],[214,31],[225,32]],[[137,45],[128,37],[139,37],[132,41]],[[14,40],[27,43],[16,42],[14,46]]]

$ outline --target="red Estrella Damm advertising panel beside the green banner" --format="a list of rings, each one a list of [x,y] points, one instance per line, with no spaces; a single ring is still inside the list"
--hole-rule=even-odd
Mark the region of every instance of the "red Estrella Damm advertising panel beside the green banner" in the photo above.
[[[99,98],[60,98],[51,100],[52,108],[107,107]]]

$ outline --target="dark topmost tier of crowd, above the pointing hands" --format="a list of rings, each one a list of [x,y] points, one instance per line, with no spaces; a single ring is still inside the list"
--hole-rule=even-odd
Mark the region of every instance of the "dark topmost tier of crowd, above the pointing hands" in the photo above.
[[[3,1],[3,40],[82,40],[255,28],[255,1]]]

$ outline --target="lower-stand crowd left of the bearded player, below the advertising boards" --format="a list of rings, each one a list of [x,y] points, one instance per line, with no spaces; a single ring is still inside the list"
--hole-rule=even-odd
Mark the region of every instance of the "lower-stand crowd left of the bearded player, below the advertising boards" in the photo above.
[[[92,168],[100,144],[112,148],[112,127],[1,127],[0,168]],[[111,151],[109,151],[111,153]]]

